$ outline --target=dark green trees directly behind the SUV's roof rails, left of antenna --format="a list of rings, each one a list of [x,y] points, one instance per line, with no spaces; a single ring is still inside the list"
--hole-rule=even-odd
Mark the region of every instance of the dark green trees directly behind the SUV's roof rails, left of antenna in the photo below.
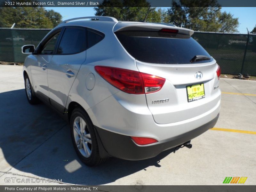
[[[141,21],[145,19],[149,3],[146,0],[103,0],[95,9],[96,16],[110,16],[122,21]],[[146,21],[161,22],[161,9],[151,7]]]

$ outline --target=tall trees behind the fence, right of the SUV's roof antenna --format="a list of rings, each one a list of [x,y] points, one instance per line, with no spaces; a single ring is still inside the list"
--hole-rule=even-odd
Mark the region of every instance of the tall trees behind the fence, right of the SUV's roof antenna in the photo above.
[[[167,10],[168,22],[195,31],[236,32],[238,18],[227,12],[221,13],[217,0],[173,1]]]

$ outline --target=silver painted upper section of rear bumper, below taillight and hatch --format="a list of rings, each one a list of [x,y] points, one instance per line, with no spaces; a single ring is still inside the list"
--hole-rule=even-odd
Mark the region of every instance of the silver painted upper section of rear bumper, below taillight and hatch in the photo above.
[[[190,132],[212,121],[220,112],[219,97],[213,108],[202,111],[199,116],[175,123],[157,124],[148,109],[145,95],[128,97],[127,94],[117,92],[88,109],[86,112],[92,123],[110,132],[162,141]]]

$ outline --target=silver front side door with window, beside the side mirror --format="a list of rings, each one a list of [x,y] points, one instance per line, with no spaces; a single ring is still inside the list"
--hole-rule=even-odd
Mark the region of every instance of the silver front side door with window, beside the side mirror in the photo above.
[[[49,101],[49,89],[47,81],[47,72],[49,64],[52,60],[52,55],[60,36],[60,31],[53,31],[46,39],[38,46],[37,54],[35,54],[36,62],[31,66],[33,88],[36,94]]]

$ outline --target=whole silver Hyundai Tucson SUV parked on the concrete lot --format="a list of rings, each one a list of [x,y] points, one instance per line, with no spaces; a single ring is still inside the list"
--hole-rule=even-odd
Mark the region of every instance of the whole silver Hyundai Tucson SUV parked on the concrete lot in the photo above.
[[[44,101],[69,122],[76,153],[89,166],[191,148],[220,111],[220,67],[193,33],[112,17],[63,21],[36,49],[22,47],[30,53],[28,102]]]

